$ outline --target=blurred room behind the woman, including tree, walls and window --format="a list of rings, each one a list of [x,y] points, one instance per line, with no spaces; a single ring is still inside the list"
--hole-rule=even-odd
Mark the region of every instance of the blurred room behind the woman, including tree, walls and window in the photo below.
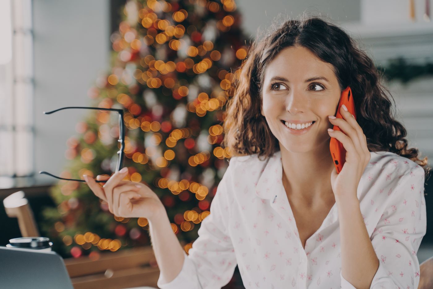
[[[0,199],[23,191],[41,235],[62,257],[149,246],[145,218],[117,218],[78,182],[115,170],[116,113],[125,110],[128,178],[155,188],[184,249],[222,178],[227,99],[249,45],[272,23],[329,17],[385,72],[408,147],[433,158],[433,23],[430,0],[2,0],[0,2]],[[81,178],[82,179],[82,178]],[[427,234],[433,256],[431,179]],[[21,237],[0,208],[0,245]],[[242,288],[236,268],[225,288]]]

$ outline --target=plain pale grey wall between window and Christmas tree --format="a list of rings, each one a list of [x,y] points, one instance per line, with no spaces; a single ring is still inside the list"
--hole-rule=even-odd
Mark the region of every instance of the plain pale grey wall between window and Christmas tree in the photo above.
[[[109,68],[110,1],[33,0],[35,170],[60,174],[66,140],[81,110],[45,115],[65,106],[90,106],[87,89]],[[36,175],[38,182],[53,178]]]

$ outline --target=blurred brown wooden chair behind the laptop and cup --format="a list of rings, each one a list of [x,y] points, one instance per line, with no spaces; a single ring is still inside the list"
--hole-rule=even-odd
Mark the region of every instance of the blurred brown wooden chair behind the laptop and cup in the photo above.
[[[39,237],[36,221],[25,198],[19,191],[3,200],[6,214],[18,218],[23,237]],[[102,252],[97,260],[87,256],[64,259],[75,289],[121,289],[137,286],[158,288],[159,269],[152,247],[140,247],[119,252]],[[150,287],[147,287],[150,286]],[[137,288],[137,289],[139,289]]]

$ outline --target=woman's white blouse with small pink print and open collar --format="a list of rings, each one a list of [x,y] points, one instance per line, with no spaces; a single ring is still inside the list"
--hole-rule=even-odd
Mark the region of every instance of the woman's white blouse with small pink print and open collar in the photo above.
[[[371,156],[357,190],[379,260],[370,288],[417,288],[427,230],[424,170],[395,153]],[[336,204],[304,249],[281,180],[281,151],[265,160],[232,157],[181,272],[165,284],[160,275],[158,287],[221,288],[237,264],[246,289],[355,289],[341,275]]]

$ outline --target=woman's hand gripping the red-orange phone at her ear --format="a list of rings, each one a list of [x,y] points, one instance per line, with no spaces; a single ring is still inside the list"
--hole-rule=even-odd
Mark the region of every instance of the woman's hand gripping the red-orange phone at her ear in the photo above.
[[[359,126],[355,117],[343,107],[340,109],[342,118],[329,118],[333,125],[340,130],[328,131],[331,137],[341,142],[346,149],[346,162],[337,174],[334,168],[331,173],[331,185],[336,197],[346,196],[346,194],[355,194],[358,190],[359,180],[364,173],[365,167],[370,161],[371,154],[368,151],[367,139],[362,128]]]

